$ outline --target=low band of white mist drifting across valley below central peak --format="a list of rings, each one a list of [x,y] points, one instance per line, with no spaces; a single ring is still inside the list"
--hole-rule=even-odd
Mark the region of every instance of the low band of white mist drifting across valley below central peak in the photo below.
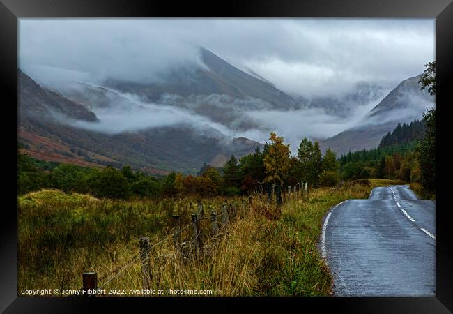
[[[327,114],[322,108],[298,110],[269,110],[272,107],[263,100],[237,99],[226,95],[190,96],[183,98],[165,94],[160,102],[151,103],[135,94],[95,84],[73,85],[72,89],[86,87],[108,91],[108,107],[91,107],[100,121],[66,121],[77,128],[116,135],[137,133],[141,130],[162,127],[190,127],[199,135],[218,140],[246,137],[256,142],[268,141],[270,132],[284,136],[295,153],[300,140],[323,139],[341,130],[359,124],[376,103],[356,107],[353,116],[344,119]],[[112,96],[114,95],[114,96]],[[96,100],[89,103],[95,103]],[[208,104],[208,108],[206,108]],[[222,112],[222,122],[209,117],[212,107]]]

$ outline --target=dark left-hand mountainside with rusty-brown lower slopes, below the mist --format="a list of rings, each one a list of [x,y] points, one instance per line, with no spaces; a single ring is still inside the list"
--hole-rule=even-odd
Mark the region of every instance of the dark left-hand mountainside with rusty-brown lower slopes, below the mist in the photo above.
[[[107,104],[106,104],[107,105]],[[171,170],[194,173],[203,163],[219,165],[231,154],[244,156],[262,145],[203,132],[190,124],[107,134],[78,128],[102,123],[89,106],[49,91],[19,70],[19,142],[36,158],[100,167],[132,165],[153,174]]]

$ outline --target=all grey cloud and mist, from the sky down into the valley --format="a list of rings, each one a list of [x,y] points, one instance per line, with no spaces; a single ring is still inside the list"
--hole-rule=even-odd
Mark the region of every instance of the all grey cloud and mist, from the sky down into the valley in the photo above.
[[[18,57],[33,80],[84,103],[99,119],[66,121],[77,128],[116,135],[188,126],[206,137],[260,143],[273,131],[294,153],[303,137],[420,119],[432,101],[411,94],[401,97],[413,106],[386,117],[367,114],[434,60],[434,26],[433,19],[20,19]],[[151,86],[174,70],[209,70],[200,47],[293,96],[295,105],[275,110],[261,99],[224,94],[169,93],[151,101],[107,84]],[[363,82],[377,94],[350,100]],[[319,98],[332,106],[312,107]]]

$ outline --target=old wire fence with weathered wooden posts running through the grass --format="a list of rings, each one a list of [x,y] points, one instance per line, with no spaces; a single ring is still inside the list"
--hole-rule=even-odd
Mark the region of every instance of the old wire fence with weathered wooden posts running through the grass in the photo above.
[[[241,197],[239,202],[223,202],[220,206],[220,212],[217,213],[217,209],[211,209],[210,215],[205,216],[205,207],[203,204],[198,204],[198,211],[192,213],[191,222],[181,227],[181,217],[179,215],[173,215],[172,221],[174,225],[174,232],[163,237],[155,244],[151,245],[149,237],[139,238],[139,253],[133,255],[127,262],[122,264],[120,267],[114,269],[109,274],[105,274],[101,278],[98,278],[98,274],[95,271],[84,272],[82,274],[83,286],[78,290],[79,293],[72,295],[83,295],[83,296],[95,296],[99,295],[102,288],[108,283],[112,282],[118,276],[121,276],[123,272],[128,269],[132,264],[141,264],[141,281],[144,290],[149,289],[151,280],[153,277],[153,269],[150,260],[151,251],[163,244],[166,241],[173,239],[173,245],[176,251],[176,255],[181,260],[188,260],[190,257],[195,259],[201,259],[204,255],[204,238],[205,234],[201,229],[202,221],[210,221],[210,234],[211,239],[217,239],[227,229],[227,225],[232,223],[236,218],[245,216],[247,207],[252,209],[252,202],[259,202],[261,207],[267,207],[268,209],[273,206],[279,207],[284,202],[290,202],[291,200],[307,200],[309,198],[309,186],[307,182],[300,182],[294,186],[283,186],[272,185],[272,190],[268,189],[267,200],[265,195],[262,193],[254,193],[249,195],[248,204],[247,198]],[[247,206],[248,205],[248,206]],[[221,224],[219,226],[219,216],[221,216]],[[190,239],[183,241],[182,234],[185,231],[190,231]],[[98,283],[102,282],[98,286]]]

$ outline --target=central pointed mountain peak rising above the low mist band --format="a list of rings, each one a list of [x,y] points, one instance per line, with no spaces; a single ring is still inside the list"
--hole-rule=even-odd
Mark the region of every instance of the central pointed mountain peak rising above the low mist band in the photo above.
[[[244,112],[250,110],[289,110],[297,101],[263,77],[232,66],[213,52],[200,48],[203,66],[181,66],[169,70],[155,82],[137,83],[108,79],[93,84],[75,82],[62,89],[66,98],[98,109],[125,106],[134,95],[143,103],[178,107],[206,117],[234,130],[259,127]]]

